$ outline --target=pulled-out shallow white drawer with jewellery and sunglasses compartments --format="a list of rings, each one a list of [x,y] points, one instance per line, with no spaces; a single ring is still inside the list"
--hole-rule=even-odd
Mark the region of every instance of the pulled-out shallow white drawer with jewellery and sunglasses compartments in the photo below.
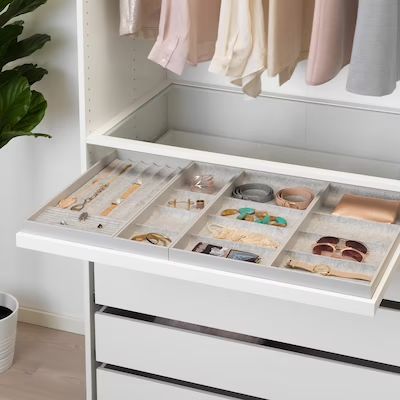
[[[119,151],[35,213],[18,233],[17,243],[222,289],[372,316],[399,261],[399,221],[383,224],[339,217],[332,211],[346,193],[400,200],[400,183],[345,173],[337,173],[332,182],[330,171],[325,173],[327,181],[322,181],[312,179],[314,172],[268,162],[265,171],[250,171]],[[209,176],[211,184],[207,179],[206,184],[197,182],[198,177]],[[358,186],[361,182],[366,186]],[[263,203],[254,202],[254,197],[251,201],[234,198],[234,189],[248,183],[268,185],[275,194],[302,186],[314,197],[304,210],[279,205],[268,196],[262,196]],[[240,210],[244,209],[254,210],[258,219],[243,219]],[[259,223],[260,215],[263,223]],[[332,235],[362,242],[365,257],[357,262],[313,254],[318,238]],[[289,260],[315,267],[314,272],[321,274],[289,268]]]

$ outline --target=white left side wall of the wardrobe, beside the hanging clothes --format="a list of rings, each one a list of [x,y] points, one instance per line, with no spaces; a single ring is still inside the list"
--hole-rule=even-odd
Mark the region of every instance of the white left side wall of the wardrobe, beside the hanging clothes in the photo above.
[[[118,1],[78,1],[83,7],[79,41],[82,104],[87,133],[92,133],[157,87],[166,73],[147,60],[151,41],[119,36]]]

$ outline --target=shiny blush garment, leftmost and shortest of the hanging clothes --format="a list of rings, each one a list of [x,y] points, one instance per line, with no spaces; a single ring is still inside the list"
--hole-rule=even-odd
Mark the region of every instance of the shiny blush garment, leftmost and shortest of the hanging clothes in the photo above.
[[[120,0],[120,35],[156,38],[161,0]]]

